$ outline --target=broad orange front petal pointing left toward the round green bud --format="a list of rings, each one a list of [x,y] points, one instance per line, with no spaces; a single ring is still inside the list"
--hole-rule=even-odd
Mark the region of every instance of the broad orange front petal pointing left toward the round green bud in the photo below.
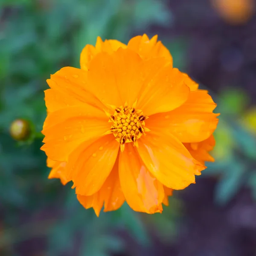
[[[110,129],[108,117],[87,104],[49,113],[42,133],[41,149],[52,160],[67,162],[68,155],[82,142],[102,136]]]

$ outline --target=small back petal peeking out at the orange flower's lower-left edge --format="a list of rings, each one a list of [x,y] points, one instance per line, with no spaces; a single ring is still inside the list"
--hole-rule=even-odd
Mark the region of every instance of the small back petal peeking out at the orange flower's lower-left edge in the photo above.
[[[66,167],[65,162],[57,162],[47,158],[47,166],[52,168],[51,172],[49,173],[48,179],[60,179],[62,185],[66,185],[70,180],[64,175],[64,169]]]

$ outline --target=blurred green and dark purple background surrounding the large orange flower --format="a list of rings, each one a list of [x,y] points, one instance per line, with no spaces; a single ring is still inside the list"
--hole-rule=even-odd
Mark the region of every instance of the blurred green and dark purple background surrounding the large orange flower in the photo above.
[[[209,0],[0,0],[0,256],[256,256],[256,17],[225,8],[231,20]],[[143,33],[218,103],[216,161],[162,214],[125,204],[97,218],[47,179],[46,79],[79,67],[98,35]],[[23,142],[15,119],[32,131]]]

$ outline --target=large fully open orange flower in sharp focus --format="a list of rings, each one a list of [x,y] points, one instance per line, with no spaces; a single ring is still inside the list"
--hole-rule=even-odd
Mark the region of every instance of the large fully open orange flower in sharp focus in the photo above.
[[[162,212],[172,189],[195,183],[206,168],[187,148],[201,149],[212,136],[215,103],[172,67],[157,36],[128,45],[98,38],[80,64],[47,80],[41,149],[56,163],[50,177],[72,180],[80,203],[97,215],[103,204],[111,211],[124,201],[135,211]]]

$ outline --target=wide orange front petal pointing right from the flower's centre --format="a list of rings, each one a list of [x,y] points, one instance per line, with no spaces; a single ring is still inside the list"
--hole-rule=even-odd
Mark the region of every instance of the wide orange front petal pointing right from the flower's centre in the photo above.
[[[212,113],[215,107],[206,90],[192,91],[179,108],[150,116],[146,125],[149,129],[171,133],[183,143],[203,141],[217,127],[218,114]]]

